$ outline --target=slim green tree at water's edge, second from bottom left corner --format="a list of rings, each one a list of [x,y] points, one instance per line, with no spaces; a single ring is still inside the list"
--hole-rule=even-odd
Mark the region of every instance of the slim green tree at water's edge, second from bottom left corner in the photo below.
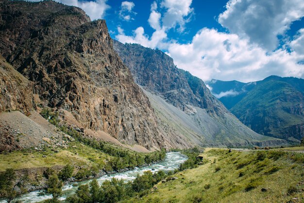
[[[58,203],[59,197],[62,195],[62,186],[63,183],[61,180],[59,180],[58,176],[56,174],[52,174],[49,177],[49,180],[47,181],[48,186],[48,193],[50,193],[53,198],[51,200],[48,200],[49,203]]]

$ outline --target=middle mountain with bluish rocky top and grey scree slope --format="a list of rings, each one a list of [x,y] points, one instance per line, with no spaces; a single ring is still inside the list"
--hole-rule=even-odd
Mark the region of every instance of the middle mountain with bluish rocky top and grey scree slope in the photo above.
[[[118,41],[114,48],[149,97],[165,133],[185,136],[202,146],[283,143],[244,126],[201,79],[177,68],[164,52]]]

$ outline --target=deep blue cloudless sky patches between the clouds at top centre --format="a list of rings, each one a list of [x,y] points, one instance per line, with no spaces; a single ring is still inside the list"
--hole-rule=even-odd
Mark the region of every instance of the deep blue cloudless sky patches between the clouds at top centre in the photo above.
[[[106,19],[111,37],[115,38],[115,35],[118,34],[118,26],[121,27],[127,35],[132,35],[136,28],[142,26],[145,33],[151,36],[154,30],[149,25],[148,19],[153,1],[154,0],[129,1],[134,3],[132,9],[134,13],[130,14],[134,19],[123,20],[123,18],[119,16],[122,0],[108,0],[107,4],[110,5],[111,8],[105,12],[103,18]],[[227,0],[218,0],[216,2],[214,0],[193,0],[191,7],[194,9],[193,12],[189,14],[190,20],[186,23],[185,32],[180,33],[176,32],[175,29],[171,29],[168,32],[168,38],[187,43],[190,42],[192,37],[203,27],[216,28],[219,31],[225,32],[225,29],[218,23],[217,17],[225,10],[226,3]]]

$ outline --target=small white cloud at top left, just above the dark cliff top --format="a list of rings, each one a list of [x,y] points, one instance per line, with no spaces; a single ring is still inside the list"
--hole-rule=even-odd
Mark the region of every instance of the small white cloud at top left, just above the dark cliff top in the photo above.
[[[40,0],[30,0],[40,1]],[[69,6],[77,6],[91,18],[91,20],[103,18],[105,11],[110,8],[106,4],[107,0],[85,1],[85,0],[55,0]]]

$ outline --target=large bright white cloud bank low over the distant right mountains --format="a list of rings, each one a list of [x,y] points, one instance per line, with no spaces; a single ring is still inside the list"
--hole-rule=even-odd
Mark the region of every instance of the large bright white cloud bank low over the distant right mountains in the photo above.
[[[205,81],[217,78],[250,82],[269,75],[304,76],[304,66],[297,63],[303,61],[303,55],[282,49],[269,54],[248,39],[214,29],[203,28],[191,43],[169,44],[167,53],[179,68]]]

